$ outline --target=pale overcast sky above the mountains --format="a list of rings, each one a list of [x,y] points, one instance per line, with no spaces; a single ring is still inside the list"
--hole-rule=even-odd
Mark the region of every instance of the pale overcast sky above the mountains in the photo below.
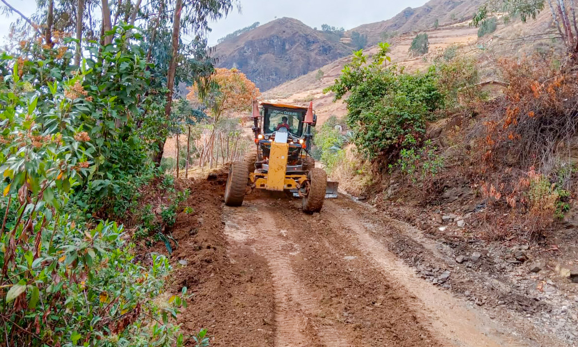
[[[361,24],[390,19],[409,7],[418,7],[427,0],[240,0],[241,13],[229,13],[227,18],[212,23],[209,43],[247,27],[256,21],[265,24],[275,18],[292,17],[310,27],[321,28],[321,24],[351,29]],[[35,10],[35,0],[7,0],[10,5],[29,16]],[[8,34],[14,17],[0,17],[0,42]]]

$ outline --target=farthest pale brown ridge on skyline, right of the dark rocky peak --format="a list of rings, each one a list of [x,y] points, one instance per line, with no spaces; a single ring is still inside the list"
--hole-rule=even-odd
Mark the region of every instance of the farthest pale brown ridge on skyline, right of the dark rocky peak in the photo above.
[[[472,14],[487,0],[431,0],[418,8],[406,8],[392,19],[360,25],[349,30],[368,35],[369,45],[382,40],[382,34],[419,32],[432,29],[436,20],[440,26],[472,19]]]

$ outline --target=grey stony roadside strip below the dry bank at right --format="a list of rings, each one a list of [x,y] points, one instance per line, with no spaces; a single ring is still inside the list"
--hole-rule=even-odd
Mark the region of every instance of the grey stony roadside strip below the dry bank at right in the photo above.
[[[565,241],[553,237],[534,244],[509,237],[487,242],[475,237],[470,223],[484,204],[466,213],[393,202],[373,206],[413,227],[411,237],[419,245],[400,240],[390,249],[432,285],[483,307],[491,319],[509,322],[515,316],[537,331],[578,345],[577,228],[561,230]]]

